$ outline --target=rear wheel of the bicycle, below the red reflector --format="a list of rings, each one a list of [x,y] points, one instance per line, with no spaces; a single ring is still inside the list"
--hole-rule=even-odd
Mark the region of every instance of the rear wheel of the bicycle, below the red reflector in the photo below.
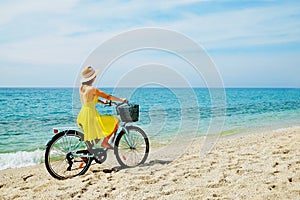
[[[45,151],[48,172],[57,179],[83,175],[93,160],[87,149],[80,132],[70,130],[56,134],[48,142]]]

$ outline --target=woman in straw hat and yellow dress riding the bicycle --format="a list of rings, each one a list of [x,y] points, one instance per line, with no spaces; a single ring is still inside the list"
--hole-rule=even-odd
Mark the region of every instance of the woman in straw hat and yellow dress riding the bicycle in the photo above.
[[[99,70],[94,70],[91,66],[85,67],[82,70],[81,86],[79,88],[80,101],[82,104],[81,110],[77,116],[77,124],[84,132],[85,141],[93,141],[96,143],[104,138],[101,146],[104,148],[113,148],[108,140],[118,129],[120,120],[115,116],[101,116],[96,110],[98,97],[107,100],[127,102],[127,99],[120,99],[108,95],[97,88],[93,87],[93,83]],[[99,102],[103,102],[99,100]]]

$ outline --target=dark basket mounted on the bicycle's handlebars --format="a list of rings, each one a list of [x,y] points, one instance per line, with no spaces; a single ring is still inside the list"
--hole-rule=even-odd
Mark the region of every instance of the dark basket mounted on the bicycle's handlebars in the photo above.
[[[129,104],[120,106],[118,114],[123,122],[136,122],[139,120],[139,105]]]

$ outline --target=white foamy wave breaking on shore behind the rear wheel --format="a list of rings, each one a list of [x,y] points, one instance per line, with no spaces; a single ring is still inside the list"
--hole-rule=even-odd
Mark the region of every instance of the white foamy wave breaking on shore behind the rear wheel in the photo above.
[[[0,170],[33,166],[42,163],[43,160],[44,151],[40,149],[31,152],[2,153],[0,154]]]

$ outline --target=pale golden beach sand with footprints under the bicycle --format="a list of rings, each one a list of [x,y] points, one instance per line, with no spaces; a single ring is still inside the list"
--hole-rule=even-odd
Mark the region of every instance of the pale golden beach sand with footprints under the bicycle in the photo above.
[[[201,159],[203,139],[169,162],[93,165],[56,180],[43,164],[0,171],[0,199],[300,199],[300,127],[226,136]]]

